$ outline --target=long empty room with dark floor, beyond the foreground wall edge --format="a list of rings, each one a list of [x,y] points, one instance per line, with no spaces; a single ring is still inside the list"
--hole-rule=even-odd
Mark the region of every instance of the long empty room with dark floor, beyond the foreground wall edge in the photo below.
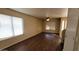
[[[1,8],[0,50],[62,51],[67,11],[68,8]]]

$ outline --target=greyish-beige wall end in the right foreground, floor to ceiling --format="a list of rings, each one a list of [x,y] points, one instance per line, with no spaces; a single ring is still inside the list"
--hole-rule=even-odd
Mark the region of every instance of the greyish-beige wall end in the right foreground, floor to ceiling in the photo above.
[[[68,9],[67,30],[65,34],[64,51],[73,51],[75,45],[76,30],[78,25],[79,9]]]

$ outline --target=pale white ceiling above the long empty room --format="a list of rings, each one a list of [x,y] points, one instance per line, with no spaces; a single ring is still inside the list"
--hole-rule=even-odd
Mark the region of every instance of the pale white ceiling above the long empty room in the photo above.
[[[38,17],[67,17],[68,8],[12,8],[13,10]]]

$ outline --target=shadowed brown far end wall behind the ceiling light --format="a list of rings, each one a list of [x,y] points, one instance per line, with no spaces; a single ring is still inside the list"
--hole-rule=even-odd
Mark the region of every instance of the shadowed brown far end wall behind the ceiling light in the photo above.
[[[46,30],[46,25],[50,27],[49,30]],[[52,18],[50,21],[44,20],[43,32],[59,33],[59,31],[60,31],[60,19],[59,18]]]

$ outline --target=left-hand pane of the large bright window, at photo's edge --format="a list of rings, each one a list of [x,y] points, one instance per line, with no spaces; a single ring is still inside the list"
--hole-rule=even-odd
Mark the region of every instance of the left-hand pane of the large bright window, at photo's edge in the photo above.
[[[0,14],[0,38],[12,36],[11,16]]]

